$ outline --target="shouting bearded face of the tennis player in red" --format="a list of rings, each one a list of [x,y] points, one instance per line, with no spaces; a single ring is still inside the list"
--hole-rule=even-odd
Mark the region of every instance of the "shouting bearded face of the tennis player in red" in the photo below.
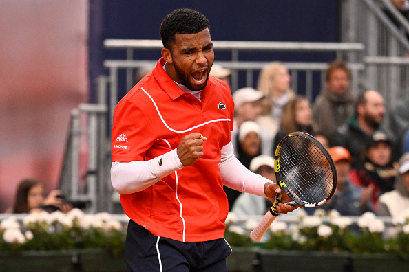
[[[195,34],[176,34],[175,42],[169,47],[162,49],[169,76],[192,91],[203,89],[214,60],[209,29]]]

